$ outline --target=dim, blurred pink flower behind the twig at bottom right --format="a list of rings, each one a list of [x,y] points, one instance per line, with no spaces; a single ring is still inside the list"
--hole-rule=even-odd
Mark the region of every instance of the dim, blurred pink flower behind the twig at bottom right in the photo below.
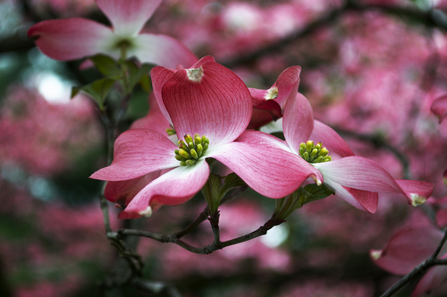
[[[383,250],[371,250],[369,254],[374,264],[380,268],[405,275],[432,256],[443,235],[442,231],[431,224],[414,224],[397,231]],[[446,258],[447,245],[444,245],[439,259]],[[446,279],[447,266],[434,266],[420,279],[411,296],[417,297],[430,292]]]

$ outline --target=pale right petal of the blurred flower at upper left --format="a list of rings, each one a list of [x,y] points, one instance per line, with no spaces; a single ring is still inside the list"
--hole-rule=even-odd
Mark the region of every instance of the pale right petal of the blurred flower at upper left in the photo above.
[[[188,47],[167,35],[142,33],[133,39],[133,43],[129,56],[136,56],[142,63],[177,68],[179,64],[190,67],[197,61]]]

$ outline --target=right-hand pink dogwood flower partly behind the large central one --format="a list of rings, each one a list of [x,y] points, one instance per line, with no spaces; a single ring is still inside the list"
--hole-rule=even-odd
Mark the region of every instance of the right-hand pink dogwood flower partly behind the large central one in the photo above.
[[[328,125],[314,120],[309,101],[302,94],[288,98],[284,109],[283,130],[286,142],[258,131],[244,132],[237,141],[282,148],[302,156],[307,167],[317,168],[325,184],[335,195],[352,206],[374,213],[378,192],[395,192],[405,195],[414,206],[430,197],[433,184],[423,181],[395,181],[376,162],[355,156],[348,144]],[[313,139],[315,143],[309,139]],[[323,144],[325,147],[323,147]],[[332,160],[328,152],[342,158]]]

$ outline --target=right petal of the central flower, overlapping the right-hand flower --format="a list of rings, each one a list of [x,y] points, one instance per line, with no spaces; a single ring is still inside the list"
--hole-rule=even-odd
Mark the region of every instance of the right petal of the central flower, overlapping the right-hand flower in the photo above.
[[[300,156],[278,148],[231,142],[206,153],[233,170],[253,190],[270,198],[291,194],[309,177],[323,181],[318,170]]]

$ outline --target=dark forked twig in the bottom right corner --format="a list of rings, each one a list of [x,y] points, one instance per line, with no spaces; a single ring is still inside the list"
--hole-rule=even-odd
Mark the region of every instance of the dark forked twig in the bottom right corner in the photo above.
[[[411,280],[413,280],[413,278],[417,277],[418,275],[425,273],[425,271],[427,271],[427,269],[432,266],[447,265],[447,259],[437,259],[444,243],[446,243],[446,240],[447,240],[447,230],[444,234],[444,237],[441,239],[441,242],[439,243],[437,249],[432,254],[432,256],[430,256],[430,258],[428,258],[427,260],[423,261],[423,263],[416,266],[416,268],[414,268],[413,271],[402,277],[398,282],[393,284],[393,287],[390,287],[390,289],[388,289],[385,293],[383,293],[381,297],[393,296],[393,294],[395,294],[402,287],[404,287],[405,284],[408,284]]]

